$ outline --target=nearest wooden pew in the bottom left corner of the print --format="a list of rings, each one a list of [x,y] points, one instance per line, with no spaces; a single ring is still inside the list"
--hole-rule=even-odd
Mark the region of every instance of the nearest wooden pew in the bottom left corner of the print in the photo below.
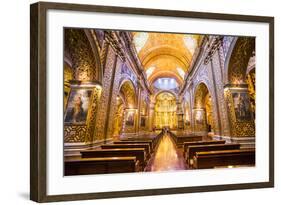
[[[64,168],[66,176],[140,171],[136,157],[65,159]]]

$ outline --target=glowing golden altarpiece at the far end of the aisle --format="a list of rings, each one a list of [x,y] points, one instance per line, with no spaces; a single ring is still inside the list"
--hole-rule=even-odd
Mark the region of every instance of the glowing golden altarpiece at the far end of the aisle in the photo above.
[[[177,103],[176,97],[170,92],[162,92],[156,96],[155,103],[155,128],[177,128]]]

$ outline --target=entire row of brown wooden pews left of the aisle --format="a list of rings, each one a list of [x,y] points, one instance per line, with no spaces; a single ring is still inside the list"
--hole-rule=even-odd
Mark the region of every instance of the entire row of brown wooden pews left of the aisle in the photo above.
[[[125,138],[103,144],[97,149],[80,151],[78,157],[65,157],[65,176],[141,172],[150,159],[159,139],[158,135]]]

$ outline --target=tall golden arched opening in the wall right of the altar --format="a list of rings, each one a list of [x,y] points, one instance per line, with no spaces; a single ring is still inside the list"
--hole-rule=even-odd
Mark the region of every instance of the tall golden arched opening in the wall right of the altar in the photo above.
[[[204,83],[200,83],[195,90],[193,112],[195,131],[214,131],[212,98]]]

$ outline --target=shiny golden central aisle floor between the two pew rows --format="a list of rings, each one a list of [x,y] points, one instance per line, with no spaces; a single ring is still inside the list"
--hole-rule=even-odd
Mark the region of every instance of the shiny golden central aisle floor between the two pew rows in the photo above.
[[[186,164],[182,156],[182,151],[176,148],[169,134],[165,134],[146,167],[146,171],[172,171],[184,170]]]

